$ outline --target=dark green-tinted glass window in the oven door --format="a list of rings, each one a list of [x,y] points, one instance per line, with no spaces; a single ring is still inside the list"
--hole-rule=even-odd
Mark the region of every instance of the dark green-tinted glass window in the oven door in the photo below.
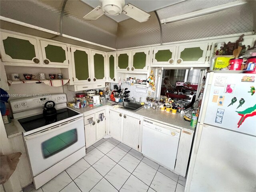
[[[72,129],[44,141],[42,143],[42,153],[44,158],[48,158],[66,149],[77,142],[77,139],[77,131],[76,129]]]

